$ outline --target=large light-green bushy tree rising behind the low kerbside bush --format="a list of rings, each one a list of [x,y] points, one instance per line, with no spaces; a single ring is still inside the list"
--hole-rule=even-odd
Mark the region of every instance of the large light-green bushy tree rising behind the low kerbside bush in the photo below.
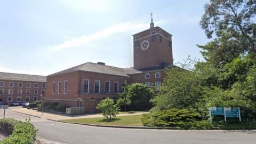
[[[170,108],[194,108],[202,95],[201,79],[193,71],[172,68],[157,96],[151,100],[155,110]]]

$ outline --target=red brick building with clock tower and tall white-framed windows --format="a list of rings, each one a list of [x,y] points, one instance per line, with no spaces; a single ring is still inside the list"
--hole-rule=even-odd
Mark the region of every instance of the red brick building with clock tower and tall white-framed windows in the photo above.
[[[47,76],[45,101],[58,101],[70,107],[95,111],[100,100],[117,99],[125,80],[128,83],[161,85],[165,68],[173,66],[172,35],[160,27],[133,35],[132,68],[117,68],[103,62],[87,62]]]

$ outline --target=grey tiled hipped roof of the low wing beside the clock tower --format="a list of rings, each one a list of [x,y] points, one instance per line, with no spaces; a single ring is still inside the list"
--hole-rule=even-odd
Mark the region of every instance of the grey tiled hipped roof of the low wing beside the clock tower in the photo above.
[[[58,73],[54,73],[49,76],[71,73],[73,71],[78,71],[78,70],[128,77],[128,75],[126,75],[125,70],[123,68],[100,65],[98,63],[92,63],[92,62],[86,62],[86,63],[83,63],[82,65],[78,65],[66,70],[62,70],[62,71],[59,71]]]

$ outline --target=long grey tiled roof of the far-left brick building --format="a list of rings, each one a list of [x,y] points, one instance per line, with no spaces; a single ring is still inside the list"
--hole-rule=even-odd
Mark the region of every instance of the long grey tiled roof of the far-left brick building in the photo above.
[[[13,80],[13,81],[46,82],[46,76],[13,74],[13,73],[3,73],[3,72],[0,72],[0,79]]]

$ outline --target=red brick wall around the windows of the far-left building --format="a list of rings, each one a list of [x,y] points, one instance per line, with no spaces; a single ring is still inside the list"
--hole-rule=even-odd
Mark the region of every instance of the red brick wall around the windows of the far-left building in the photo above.
[[[41,100],[40,94],[42,93],[42,84],[46,84],[46,82],[31,82],[31,81],[12,81],[12,80],[3,80],[0,79],[0,82],[4,82],[4,87],[0,87],[0,89],[4,89],[4,94],[0,94],[0,99],[5,103],[7,103],[7,98],[12,97],[12,102],[17,102],[17,97],[21,97],[21,102],[25,102],[25,98],[29,97],[29,102],[34,102],[34,97],[37,97],[37,100]],[[14,87],[9,87],[9,82],[14,82]],[[18,83],[22,82],[22,87],[18,87]],[[30,88],[27,88],[27,83],[30,83]],[[35,83],[38,83],[38,88],[35,88]],[[46,85],[47,87],[47,85]],[[13,94],[8,94],[9,89],[13,89]],[[18,94],[18,89],[22,90],[22,94]],[[30,90],[30,94],[26,94],[26,90]],[[38,94],[34,94],[34,90],[38,90]]]

